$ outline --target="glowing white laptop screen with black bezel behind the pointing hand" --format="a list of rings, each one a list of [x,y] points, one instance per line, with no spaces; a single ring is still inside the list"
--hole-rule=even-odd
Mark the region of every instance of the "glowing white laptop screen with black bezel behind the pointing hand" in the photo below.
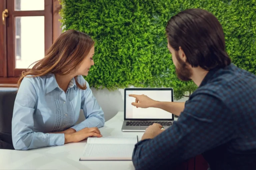
[[[129,94],[146,95],[156,101],[173,102],[173,89],[171,88],[133,88],[127,89],[125,93],[125,118],[126,119],[154,119],[154,120],[170,120],[173,114],[158,108],[136,108],[131,105],[135,102],[134,97]]]

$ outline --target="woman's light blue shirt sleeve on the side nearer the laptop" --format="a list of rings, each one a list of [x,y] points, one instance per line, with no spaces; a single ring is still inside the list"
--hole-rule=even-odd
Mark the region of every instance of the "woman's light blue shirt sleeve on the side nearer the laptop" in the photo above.
[[[86,120],[77,124],[71,128],[79,131],[83,128],[92,128],[92,127],[103,127],[105,124],[104,113],[98,104],[96,98],[92,94],[92,90],[89,87],[89,84],[86,82],[86,90],[82,92],[82,99],[81,99],[81,109],[84,111],[84,116]]]

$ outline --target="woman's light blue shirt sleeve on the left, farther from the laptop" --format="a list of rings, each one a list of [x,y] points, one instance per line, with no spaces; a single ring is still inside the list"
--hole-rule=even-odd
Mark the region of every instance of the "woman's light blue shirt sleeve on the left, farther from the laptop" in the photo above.
[[[27,150],[53,145],[63,145],[64,133],[34,132],[33,114],[37,103],[33,78],[25,77],[17,92],[12,117],[12,141],[17,150]],[[35,82],[34,82],[35,84]]]

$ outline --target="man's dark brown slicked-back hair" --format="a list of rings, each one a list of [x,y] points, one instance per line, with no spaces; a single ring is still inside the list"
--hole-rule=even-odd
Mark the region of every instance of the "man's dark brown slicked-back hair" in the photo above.
[[[223,68],[231,63],[218,19],[203,9],[187,9],[171,17],[166,26],[168,42],[183,49],[192,67]]]

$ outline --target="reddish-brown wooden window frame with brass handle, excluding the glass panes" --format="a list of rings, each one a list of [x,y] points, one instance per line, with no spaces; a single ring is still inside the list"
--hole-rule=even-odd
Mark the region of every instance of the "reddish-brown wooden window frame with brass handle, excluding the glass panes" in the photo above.
[[[15,23],[14,17],[16,16],[45,16],[45,51],[51,46],[51,44],[61,34],[61,24],[59,10],[61,5],[58,0],[44,0],[45,9],[43,11],[14,11],[14,0],[13,3],[8,3],[10,0],[0,0],[0,10],[12,9],[12,14],[6,19],[6,24],[9,26],[6,30],[6,26],[0,23],[0,87],[17,87],[17,80],[23,70],[15,68],[15,57],[14,57],[14,36],[15,36]],[[13,23],[8,25],[9,23]],[[7,35],[8,34],[8,35]],[[8,56],[7,56],[8,55]]]

